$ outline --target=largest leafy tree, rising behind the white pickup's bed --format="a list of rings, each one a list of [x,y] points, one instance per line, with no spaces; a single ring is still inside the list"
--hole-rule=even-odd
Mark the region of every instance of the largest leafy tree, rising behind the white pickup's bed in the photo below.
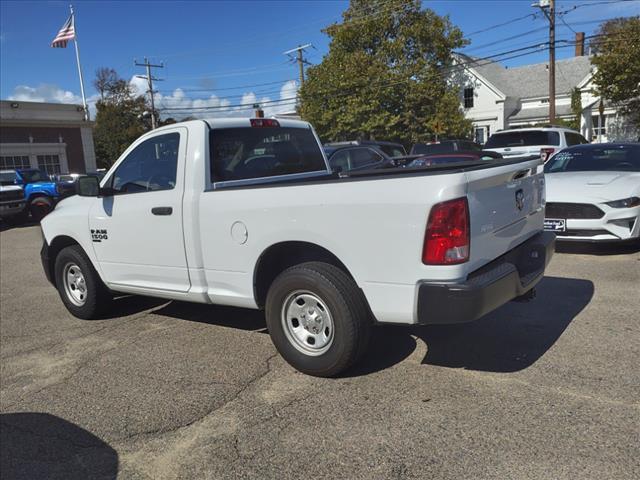
[[[342,16],[324,30],[329,53],[300,89],[300,113],[323,140],[469,135],[447,75],[465,40],[448,17],[420,0],[351,0]]]

